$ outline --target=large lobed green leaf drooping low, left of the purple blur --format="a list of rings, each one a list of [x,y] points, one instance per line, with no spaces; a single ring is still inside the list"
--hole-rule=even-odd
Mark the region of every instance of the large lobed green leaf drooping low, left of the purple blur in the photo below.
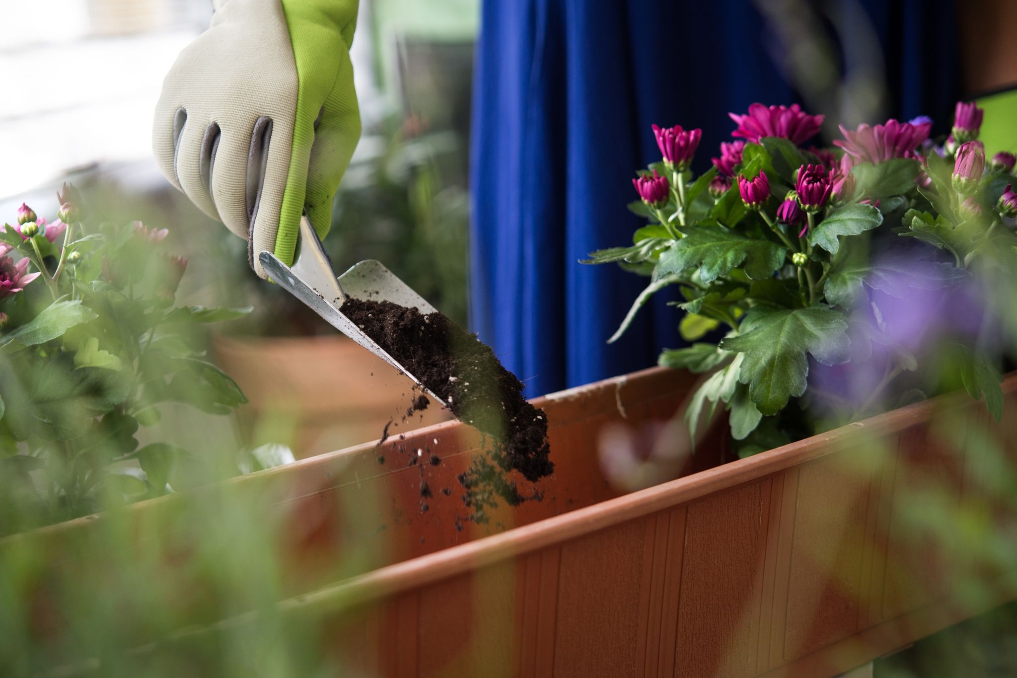
[[[740,378],[750,385],[752,400],[764,415],[777,414],[791,396],[805,392],[805,354],[824,365],[850,358],[847,321],[841,313],[824,306],[758,307],[742,322],[742,328],[738,336],[723,340],[720,348],[744,354]]]

